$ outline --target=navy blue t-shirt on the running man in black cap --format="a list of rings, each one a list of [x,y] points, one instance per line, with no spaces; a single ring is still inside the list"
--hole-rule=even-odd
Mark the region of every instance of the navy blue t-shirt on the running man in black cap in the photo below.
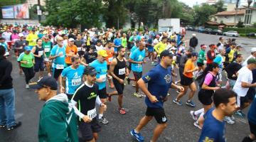
[[[145,83],[148,83],[149,92],[159,100],[159,102],[151,103],[149,98],[146,97],[146,106],[163,108],[163,99],[166,97],[169,88],[171,87],[171,67],[166,69],[160,64],[156,65],[156,67],[149,70],[149,72],[142,77],[142,80],[144,80]]]

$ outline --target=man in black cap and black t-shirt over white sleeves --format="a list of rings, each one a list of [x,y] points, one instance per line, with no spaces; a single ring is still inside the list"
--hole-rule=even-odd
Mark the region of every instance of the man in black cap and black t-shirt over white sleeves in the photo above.
[[[99,87],[95,84],[97,74],[95,68],[88,66],[83,74],[86,81],[75,91],[71,103],[75,114],[79,116],[78,129],[82,134],[80,141],[97,141],[97,133],[100,132],[101,127],[97,120],[95,102],[104,109],[107,109],[107,106],[100,101]]]

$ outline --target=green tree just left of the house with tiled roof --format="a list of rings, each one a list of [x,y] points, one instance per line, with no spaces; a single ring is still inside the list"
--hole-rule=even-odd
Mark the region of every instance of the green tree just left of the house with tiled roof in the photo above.
[[[214,6],[208,4],[202,4],[202,6],[194,6],[195,11],[194,23],[197,26],[202,26],[204,23],[210,20],[210,16],[216,13],[217,9]]]

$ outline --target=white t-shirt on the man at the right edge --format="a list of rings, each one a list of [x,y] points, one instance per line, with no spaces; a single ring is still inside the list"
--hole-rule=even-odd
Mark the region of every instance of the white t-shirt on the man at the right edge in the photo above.
[[[252,83],[252,70],[249,70],[247,66],[242,67],[238,71],[238,80],[236,80],[233,87],[234,92],[240,97],[245,97],[249,88],[242,87],[242,82]]]

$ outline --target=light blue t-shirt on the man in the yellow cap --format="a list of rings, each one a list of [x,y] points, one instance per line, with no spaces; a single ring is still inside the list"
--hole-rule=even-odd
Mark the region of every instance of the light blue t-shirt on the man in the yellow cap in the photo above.
[[[95,67],[97,71],[96,78],[103,78],[103,82],[96,82],[99,85],[99,89],[104,89],[106,87],[107,80],[107,62],[99,62],[99,60],[94,60],[89,64],[91,67]]]

